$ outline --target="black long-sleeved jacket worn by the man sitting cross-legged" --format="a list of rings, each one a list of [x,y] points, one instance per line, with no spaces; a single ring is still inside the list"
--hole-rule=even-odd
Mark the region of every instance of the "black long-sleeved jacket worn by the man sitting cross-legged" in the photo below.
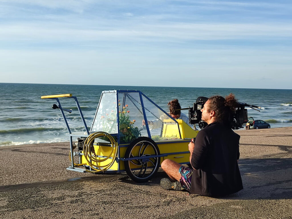
[[[243,189],[237,164],[240,136],[214,122],[199,131],[192,154],[190,193],[205,196],[232,194]]]

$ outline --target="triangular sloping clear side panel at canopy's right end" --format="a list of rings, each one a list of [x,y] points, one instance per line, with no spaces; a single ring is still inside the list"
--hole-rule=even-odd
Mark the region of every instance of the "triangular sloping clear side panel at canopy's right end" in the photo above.
[[[178,124],[171,118],[171,116],[164,113],[144,96],[142,96],[142,100],[147,120],[150,121],[149,129],[151,138],[153,140],[164,140],[168,137],[171,139],[180,139],[180,135],[177,135],[177,133],[179,133]],[[168,121],[168,123],[171,123],[172,125],[172,131],[168,131],[165,134],[163,134],[164,121]]]

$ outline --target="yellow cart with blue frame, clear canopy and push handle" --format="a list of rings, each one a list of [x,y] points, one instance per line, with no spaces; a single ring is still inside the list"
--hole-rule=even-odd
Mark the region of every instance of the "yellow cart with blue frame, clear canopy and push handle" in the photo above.
[[[75,100],[85,132],[71,132],[64,111],[71,113],[72,110],[62,108],[59,98],[63,97]],[[60,109],[64,117],[71,147],[68,170],[92,173],[126,171],[132,180],[146,182],[164,159],[190,163],[188,144],[198,131],[181,119],[170,117],[140,91],[103,91],[90,130],[78,100],[72,94],[41,98],[55,99],[58,105],[54,104],[53,109]],[[152,121],[153,126],[143,121]],[[75,143],[73,138],[77,138]],[[78,162],[75,162],[77,157]]]

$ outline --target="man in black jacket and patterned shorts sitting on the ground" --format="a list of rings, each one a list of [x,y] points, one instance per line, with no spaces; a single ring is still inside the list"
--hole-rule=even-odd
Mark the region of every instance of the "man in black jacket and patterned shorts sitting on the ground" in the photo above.
[[[238,102],[230,93],[225,98],[213,96],[201,109],[208,126],[199,131],[195,142],[189,143],[193,168],[166,159],[161,168],[171,180],[163,178],[166,190],[188,190],[204,196],[222,196],[243,189],[237,160],[240,136],[231,129],[232,112]]]

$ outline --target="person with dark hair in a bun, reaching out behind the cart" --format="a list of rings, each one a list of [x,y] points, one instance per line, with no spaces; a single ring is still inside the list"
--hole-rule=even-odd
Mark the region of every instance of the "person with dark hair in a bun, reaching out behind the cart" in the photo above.
[[[178,109],[181,109],[178,99],[171,100],[170,102],[168,102],[168,105],[169,105],[168,114],[173,119],[182,119],[186,124],[188,124],[191,128],[193,128],[189,122],[189,117],[186,114],[180,112],[180,110],[178,110]],[[149,125],[150,130],[155,129],[155,128],[160,128],[164,119],[170,119],[170,118],[168,115],[164,113],[159,117],[159,119],[154,119],[151,121],[148,120],[147,123]],[[145,125],[145,120],[142,121],[142,124]]]

